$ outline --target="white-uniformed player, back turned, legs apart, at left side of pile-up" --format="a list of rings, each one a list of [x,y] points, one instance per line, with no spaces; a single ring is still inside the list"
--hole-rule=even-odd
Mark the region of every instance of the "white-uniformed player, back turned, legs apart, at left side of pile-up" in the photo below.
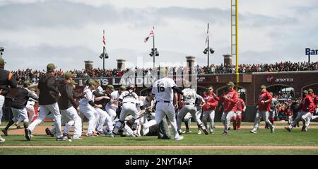
[[[136,104],[139,102],[138,95],[134,92],[135,91],[135,86],[134,85],[129,85],[127,88],[128,91],[122,92],[122,94],[119,96],[119,101],[122,103],[122,110],[119,115],[119,121],[116,122],[114,126],[114,130],[112,131],[114,134],[118,135],[119,130],[122,128],[128,129],[128,126],[125,125],[124,121],[125,118],[128,115],[132,115],[134,118],[134,124],[131,127],[132,130],[136,130],[136,127],[138,125],[138,117],[139,117],[139,112],[137,110]],[[130,127],[129,127],[130,128]],[[128,129],[130,131],[130,129]],[[129,136],[132,136],[129,134]]]

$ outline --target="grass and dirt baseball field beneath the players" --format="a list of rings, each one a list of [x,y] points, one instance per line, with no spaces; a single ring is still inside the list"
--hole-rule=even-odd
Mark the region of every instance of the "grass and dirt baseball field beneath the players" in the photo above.
[[[12,127],[8,136],[2,134],[6,141],[0,144],[0,154],[318,154],[317,122],[312,122],[307,132],[301,132],[298,127],[288,132],[283,129],[286,122],[276,122],[274,134],[264,129],[264,122],[261,122],[257,134],[251,134],[252,125],[243,123],[241,130],[230,130],[228,136],[223,136],[223,125],[217,122],[215,133],[206,136],[198,135],[196,125],[192,123],[192,133],[182,134],[182,141],[157,139],[157,136],[84,136],[82,140],[55,141],[54,137],[45,135],[45,128],[52,126],[47,122],[35,128],[32,141],[25,140],[23,129]],[[86,126],[84,124],[84,128]]]

